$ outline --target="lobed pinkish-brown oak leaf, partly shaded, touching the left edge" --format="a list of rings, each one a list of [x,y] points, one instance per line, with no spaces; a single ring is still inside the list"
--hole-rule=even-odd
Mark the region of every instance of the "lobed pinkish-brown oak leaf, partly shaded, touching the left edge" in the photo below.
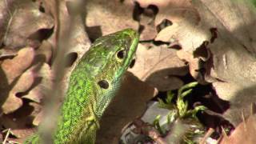
[[[0,90],[1,106],[5,114],[22,106],[22,100],[16,97],[16,94],[18,92],[25,92],[30,87],[31,81],[33,82],[33,79],[31,79],[33,74],[31,74],[30,70],[27,70],[26,74],[22,74],[31,65],[33,59],[34,50],[27,47],[19,50],[18,55],[13,59],[6,59],[2,62]],[[18,82],[19,79],[21,79],[20,82]]]

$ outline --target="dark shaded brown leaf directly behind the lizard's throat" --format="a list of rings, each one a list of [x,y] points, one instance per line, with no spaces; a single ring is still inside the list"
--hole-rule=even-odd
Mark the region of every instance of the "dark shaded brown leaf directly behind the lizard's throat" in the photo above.
[[[118,143],[122,128],[144,113],[146,102],[155,94],[153,87],[141,82],[133,74],[126,73],[121,90],[101,119],[96,143]]]

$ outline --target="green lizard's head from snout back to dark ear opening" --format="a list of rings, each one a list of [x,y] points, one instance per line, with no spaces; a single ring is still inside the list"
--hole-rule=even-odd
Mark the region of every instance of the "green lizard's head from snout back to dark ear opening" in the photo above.
[[[132,29],[98,38],[86,53],[87,66],[90,66],[87,70],[99,86],[107,89],[120,81],[134,58],[137,46],[138,33]]]

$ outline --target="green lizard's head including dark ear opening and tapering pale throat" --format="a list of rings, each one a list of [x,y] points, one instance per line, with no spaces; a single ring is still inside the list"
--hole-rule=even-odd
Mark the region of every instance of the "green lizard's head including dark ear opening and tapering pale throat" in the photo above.
[[[121,85],[138,46],[138,33],[132,29],[98,38],[82,58],[88,77],[97,89],[96,113],[100,117]]]

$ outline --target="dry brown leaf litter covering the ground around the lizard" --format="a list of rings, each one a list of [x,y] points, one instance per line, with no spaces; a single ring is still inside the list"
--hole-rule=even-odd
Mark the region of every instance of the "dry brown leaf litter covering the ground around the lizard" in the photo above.
[[[97,0],[82,4],[82,12],[78,10],[81,14],[76,14],[72,2],[60,2],[60,13],[54,1],[0,2],[0,123],[4,129],[11,128],[11,141],[22,142],[45,118],[42,106],[47,98],[56,96],[47,91],[54,87],[54,66],[58,65],[56,57],[62,48],[59,42],[66,39],[70,28],[73,28],[70,43],[62,57],[74,54],[74,59],[71,58],[70,67],[61,69],[65,72],[61,77],[62,93],[65,93],[70,71],[88,50],[90,42],[127,27],[140,32],[141,42],[135,64],[124,78],[125,84],[102,118],[99,143],[118,143],[129,123],[142,117],[150,99],[155,101],[154,97],[162,98],[161,94],[166,91],[178,90],[188,83],[188,75],[189,82],[194,78],[229,102],[230,107],[217,115],[236,129],[229,140],[219,141],[238,140],[239,137],[233,135],[247,123],[246,127],[251,129],[242,129],[246,132],[240,130],[240,133],[248,136],[248,142],[254,141],[250,139],[255,123],[250,104],[255,102],[256,95],[256,26],[252,3]],[[30,107],[29,114],[24,113],[27,107]],[[5,136],[6,133],[2,133],[0,138]],[[161,137],[168,139],[174,135]]]

